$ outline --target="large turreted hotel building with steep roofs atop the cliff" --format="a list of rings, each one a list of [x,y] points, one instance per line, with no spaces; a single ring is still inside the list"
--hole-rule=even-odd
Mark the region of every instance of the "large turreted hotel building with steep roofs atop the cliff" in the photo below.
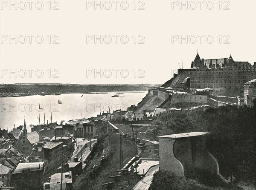
[[[185,72],[185,73],[184,73]],[[179,69],[181,73],[189,76],[190,90],[211,88],[213,94],[225,89],[238,91],[243,89],[244,83],[256,78],[256,62],[234,61],[233,58],[201,59],[199,54],[191,63],[190,69]]]

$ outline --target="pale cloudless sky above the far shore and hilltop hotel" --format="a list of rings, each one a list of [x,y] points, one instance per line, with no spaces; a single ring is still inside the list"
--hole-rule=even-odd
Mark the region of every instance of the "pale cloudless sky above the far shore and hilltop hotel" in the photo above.
[[[0,5],[0,83],[163,84],[197,51],[256,62],[255,0]]]

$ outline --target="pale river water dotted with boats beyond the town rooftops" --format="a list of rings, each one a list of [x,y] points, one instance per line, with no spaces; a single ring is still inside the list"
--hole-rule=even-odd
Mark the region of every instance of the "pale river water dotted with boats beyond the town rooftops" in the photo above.
[[[52,113],[52,122],[60,124],[64,120],[64,124],[68,120],[88,118],[96,116],[100,112],[108,111],[110,106],[111,112],[116,109],[126,110],[128,106],[137,105],[147,92],[124,92],[119,97],[111,97],[115,93],[107,94],[61,94],[59,96],[19,96],[0,98],[0,127],[3,129],[11,129],[23,125],[24,117],[26,118],[26,126],[38,125],[39,115],[41,124],[50,122]],[[83,95],[83,96],[82,96]],[[82,96],[82,97],[81,97]],[[62,104],[58,104],[58,100]],[[39,109],[39,105],[40,108]],[[42,109],[43,108],[43,109]],[[28,132],[31,131],[27,127]]]

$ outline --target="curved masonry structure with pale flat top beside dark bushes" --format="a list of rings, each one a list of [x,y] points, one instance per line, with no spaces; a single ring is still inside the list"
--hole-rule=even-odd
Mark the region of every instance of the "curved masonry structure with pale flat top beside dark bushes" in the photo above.
[[[217,160],[205,147],[207,134],[192,132],[158,136],[160,169],[182,177],[198,170],[219,174]]]

